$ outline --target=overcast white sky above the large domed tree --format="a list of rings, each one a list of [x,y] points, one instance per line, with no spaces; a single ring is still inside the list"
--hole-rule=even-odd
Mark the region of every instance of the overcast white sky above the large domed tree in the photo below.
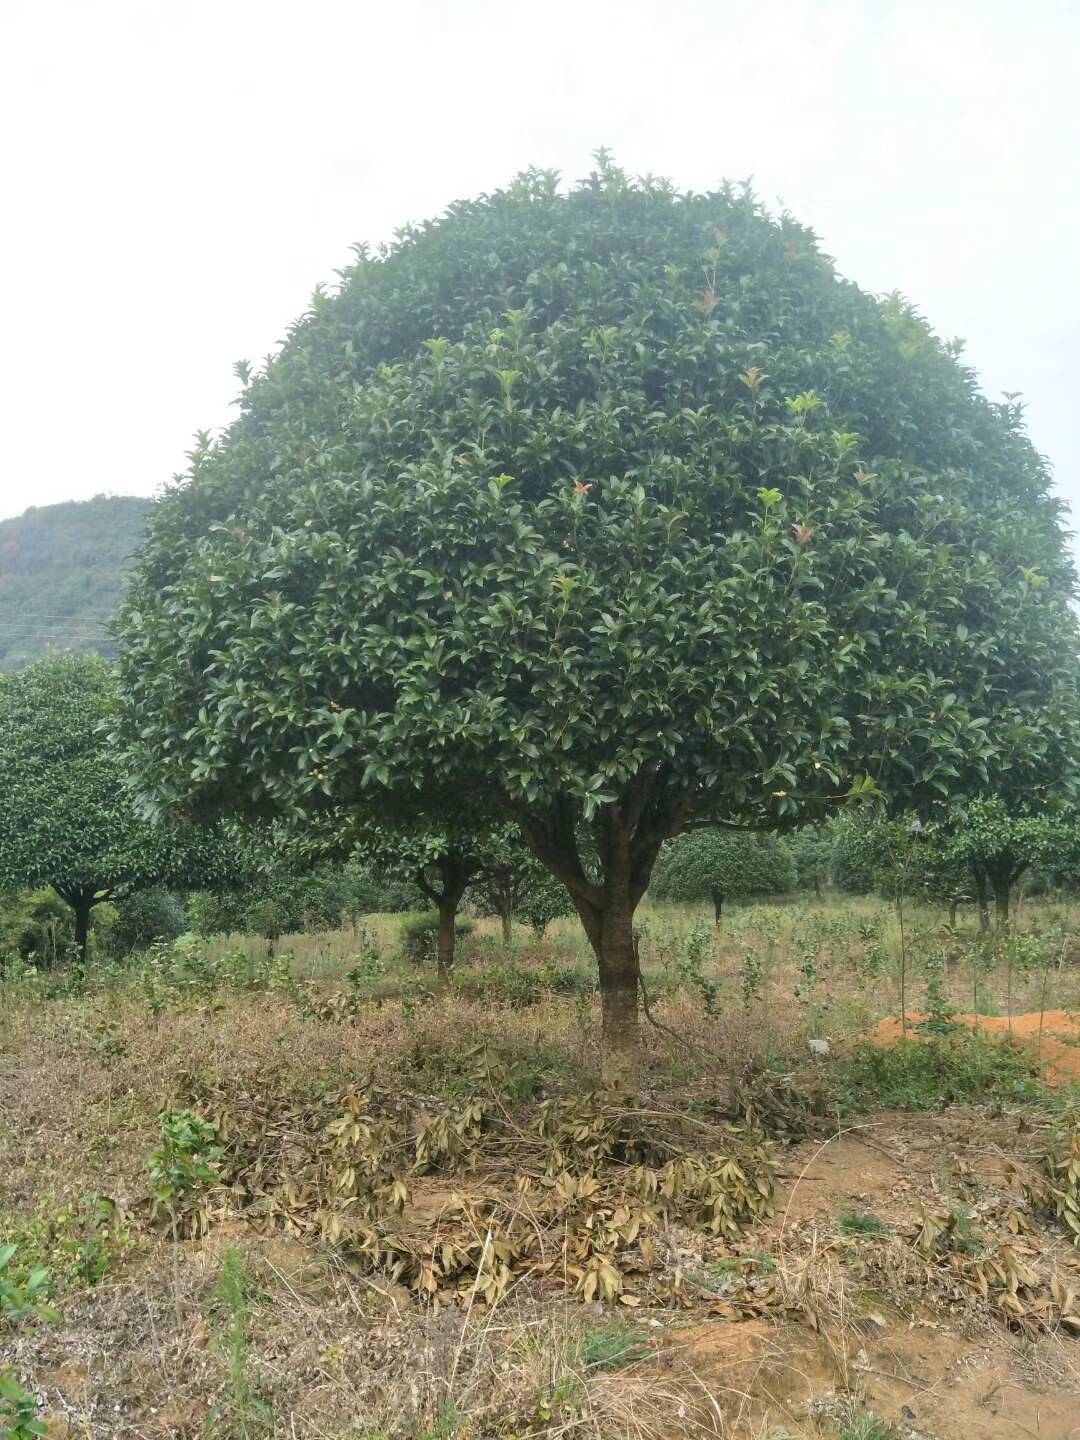
[[[0,516],[153,494],[354,240],[753,176],[1021,390],[1080,518],[1080,0],[0,0]]]

